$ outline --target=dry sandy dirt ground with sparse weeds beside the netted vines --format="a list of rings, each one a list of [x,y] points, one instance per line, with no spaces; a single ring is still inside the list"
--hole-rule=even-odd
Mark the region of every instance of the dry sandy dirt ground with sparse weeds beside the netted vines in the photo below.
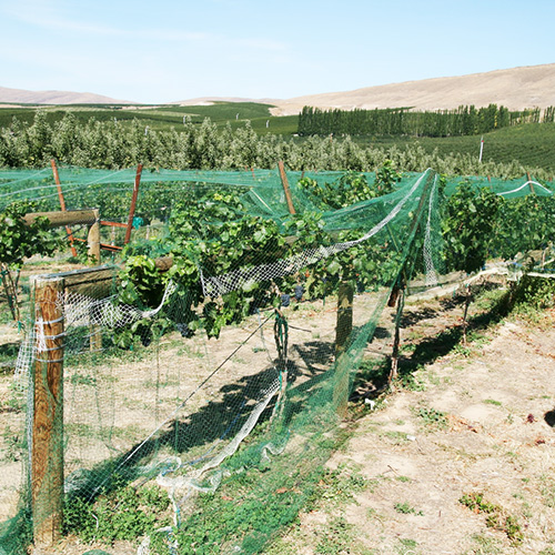
[[[363,303],[355,299],[355,322]],[[480,311],[480,303],[471,307],[471,314]],[[508,316],[481,324],[467,346],[445,335],[461,325],[461,314],[451,296],[408,297],[401,367],[417,361],[416,370],[394,391],[376,396],[362,389],[352,408],[365,415],[344,423],[352,437],[329,462],[362,476],[365,487],[347,502],[316,502],[268,553],[555,554],[555,311],[535,321]],[[333,304],[305,305],[290,323],[303,341],[330,343]],[[222,345],[235,346],[255,327],[253,321],[230,330]],[[391,329],[387,313],[369,356],[391,353]],[[270,340],[268,334],[265,344],[261,337],[250,349],[252,359],[268,359],[259,347]],[[224,353],[222,347],[204,366],[213,367]],[[233,372],[240,366],[252,371],[253,360],[240,353]],[[219,384],[211,387],[218,395]],[[82,545],[75,538],[50,553],[93,548],[137,553],[129,544]]]

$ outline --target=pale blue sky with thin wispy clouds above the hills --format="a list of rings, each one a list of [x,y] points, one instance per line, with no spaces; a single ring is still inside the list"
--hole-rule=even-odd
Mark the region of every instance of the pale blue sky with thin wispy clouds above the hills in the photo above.
[[[0,0],[0,87],[290,99],[555,62],[555,0]]]

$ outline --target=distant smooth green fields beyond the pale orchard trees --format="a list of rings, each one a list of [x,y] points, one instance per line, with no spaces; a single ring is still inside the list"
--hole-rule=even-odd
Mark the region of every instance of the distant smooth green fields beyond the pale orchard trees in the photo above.
[[[279,134],[292,137],[297,131],[297,117],[273,117],[270,114],[270,104],[253,102],[216,102],[211,105],[164,105],[164,107],[103,107],[103,105],[71,105],[44,107],[48,121],[54,122],[71,111],[79,121],[85,122],[91,118],[108,121],[117,118],[118,121],[139,120],[144,127],[152,130],[179,131],[183,125],[183,118],[189,117],[193,123],[202,123],[205,118],[223,128],[228,123],[232,129],[244,127],[251,122],[253,130],[259,134]],[[37,107],[2,108],[0,109],[0,128],[8,127],[13,117],[26,123],[32,123]],[[357,143],[375,147],[404,148],[417,142],[426,151],[437,149],[440,154],[464,153],[478,157],[480,135],[452,138],[356,138]],[[300,139],[302,140],[302,139]],[[529,168],[544,168],[555,171],[555,123],[528,123],[519,127],[504,128],[484,135],[483,160],[493,160],[496,163],[509,163],[513,160]]]

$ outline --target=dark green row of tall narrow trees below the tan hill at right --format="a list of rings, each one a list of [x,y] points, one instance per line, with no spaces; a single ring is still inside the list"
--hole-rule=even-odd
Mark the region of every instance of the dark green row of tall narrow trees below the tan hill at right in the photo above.
[[[480,109],[461,105],[455,110],[436,111],[413,111],[411,108],[321,110],[304,107],[299,115],[299,134],[460,137],[542,121],[555,121],[555,107],[545,109],[543,119],[539,108],[508,111],[497,104]]]

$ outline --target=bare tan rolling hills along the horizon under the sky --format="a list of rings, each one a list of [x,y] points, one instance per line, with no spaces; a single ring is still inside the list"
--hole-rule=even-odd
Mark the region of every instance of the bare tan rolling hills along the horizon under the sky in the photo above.
[[[133,104],[88,92],[26,91],[0,87],[0,102],[31,104]],[[208,97],[172,102],[176,105],[202,105],[214,102],[259,102],[273,104],[273,115],[291,115],[304,105],[322,109],[397,108],[417,110],[454,109],[474,104],[502,104],[509,110],[555,105],[555,63],[442,77],[420,81],[366,87],[354,91],[310,94],[292,99],[244,99]]]

